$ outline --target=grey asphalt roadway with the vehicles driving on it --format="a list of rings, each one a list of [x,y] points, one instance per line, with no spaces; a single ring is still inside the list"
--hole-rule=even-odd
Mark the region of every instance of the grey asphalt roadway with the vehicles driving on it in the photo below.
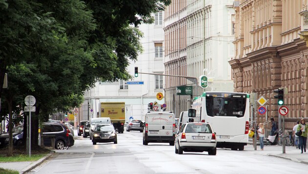
[[[288,148],[295,149],[287,147],[286,152]],[[175,147],[167,143],[142,145],[142,133],[138,131],[118,134],[118,144],[92,145],[89,138],[79,136],[73,147],[57,151],[57,155],[29,174],[286,174],[308,170],[307,164],[268,155],[271,151],[280,151],[281,146],[259,149],[254,151],[252,145],[247,145],[244,151],[218,149],[216,156],[207,152],[179,155]]]

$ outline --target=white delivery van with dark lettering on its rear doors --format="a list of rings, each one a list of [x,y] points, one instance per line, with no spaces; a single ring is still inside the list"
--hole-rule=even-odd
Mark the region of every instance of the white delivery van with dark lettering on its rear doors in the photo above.
[[[172,112],[150,111],[144,116],[143,145],[150,142],[175,145],[176,123]]]

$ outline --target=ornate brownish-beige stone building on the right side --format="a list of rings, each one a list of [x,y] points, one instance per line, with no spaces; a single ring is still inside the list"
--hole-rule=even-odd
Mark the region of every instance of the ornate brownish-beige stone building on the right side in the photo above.
[[[308,0],[239,0],[236,11],[235,58],[229,61],[237,92],[257,93],[267,100],[267,115],[278,119],[274,89],[285,87],[286,127],[308,117],[308,47],[298,33]],[[257,122],[266,118],[257,114]]]

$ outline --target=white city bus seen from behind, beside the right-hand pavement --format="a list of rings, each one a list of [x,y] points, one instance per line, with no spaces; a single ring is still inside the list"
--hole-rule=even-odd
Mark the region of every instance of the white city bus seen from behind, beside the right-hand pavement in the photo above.
[[[248,143],[249,114],[249,94],[211,91],[193,100],[188,115],[196,116],[198,122],[210,123],[218,148],[242,151]]]

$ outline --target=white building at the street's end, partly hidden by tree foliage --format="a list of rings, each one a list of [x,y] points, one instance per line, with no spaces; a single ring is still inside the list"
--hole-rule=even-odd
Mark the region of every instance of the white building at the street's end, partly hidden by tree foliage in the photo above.
[[[126,122],[130,118],[142,119],[148,111],[148,104],[157,102],[158,109],[164,104],[164,98],[157,100],[156,94],[161,92],[164,95],[164,79],[161,75],[151,75],[142,73],[163,74],[163,40],[162,29],[163,12],[154,14],[153,24],[141,24],[139,30],[143,32],[144,38],[140,40],[144,51],[138,56],[136,62],[131,61],[127,67],[128,72],[134,76],[134,68],[138,67],[138,77],[130,81],[143,82],[143,85],[129,85],[128,82],[106,83],[97,82],[93,87],[85,92],[85,101],[80,107],[79,120],[89,120],[97,117],[100,102],[125,102]]]

